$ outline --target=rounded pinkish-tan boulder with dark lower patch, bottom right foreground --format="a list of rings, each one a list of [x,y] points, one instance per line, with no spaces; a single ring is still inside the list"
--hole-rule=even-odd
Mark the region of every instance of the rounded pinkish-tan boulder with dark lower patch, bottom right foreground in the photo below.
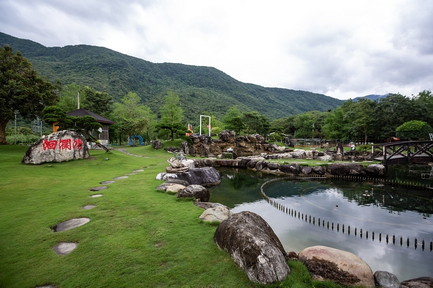
[[[350,252],[313,246],[302,250],[298,257],[315,280],[355,287],[376,287],[370,266]]]

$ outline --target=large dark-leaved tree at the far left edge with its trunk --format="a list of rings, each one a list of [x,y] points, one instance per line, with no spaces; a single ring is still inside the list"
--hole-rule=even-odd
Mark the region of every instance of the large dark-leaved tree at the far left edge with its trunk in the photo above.
[[[12,48],[0,47],[0,144],[7,144],[7,122],[18,111],[22,117],[34,119],[47,105],[57,103],[57,88],[38,75],[30,62]]]

